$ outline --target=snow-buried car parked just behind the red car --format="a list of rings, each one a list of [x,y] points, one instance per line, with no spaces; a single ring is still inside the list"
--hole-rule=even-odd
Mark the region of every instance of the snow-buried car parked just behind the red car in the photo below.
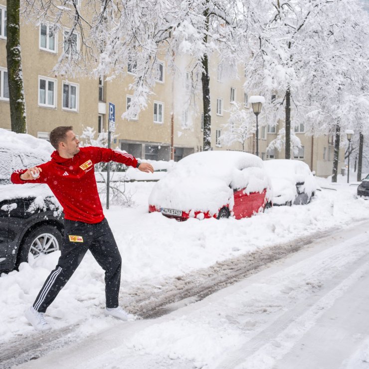
[[[309,166],[299,160],[273,159],[264,162],[273,188],[273,205],[307,204],[317,190]]]

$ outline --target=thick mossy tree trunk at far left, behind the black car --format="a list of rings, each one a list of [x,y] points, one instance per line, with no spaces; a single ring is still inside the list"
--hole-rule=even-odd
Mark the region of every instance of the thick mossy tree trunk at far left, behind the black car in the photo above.
[[[6,62],[11,130],[26,133],[26,115],[20,53],[19,0],[6,3]]]

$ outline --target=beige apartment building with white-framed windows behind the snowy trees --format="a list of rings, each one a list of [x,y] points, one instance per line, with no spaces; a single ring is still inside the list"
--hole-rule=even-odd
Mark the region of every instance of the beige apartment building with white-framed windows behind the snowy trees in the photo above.
[[[10,129],[9,99],[6,70],[6,1],[0,0],[0,128]],[[176,73],[169,70],[166,52],[158,55],[158,74],[147,108],[131,119],[123,119],[133,91],[129,85],[134,79],[134,66],[127,65],[127,73],[113,80],[106,76],[71,78],[52,72],[63,52],[64,39],[69,29],[54,32],[47,24],[21,24],[21,53],[27,114],[27,133],[48,139],[58,125],[71,125],[77,135],[84,127],[96,132],[108,129],[109,102],[115,104],[117,137],[112,147],[119,147],[143,159],[170,160],[171,145],[176,161],[202,150],[203,114],[200,78],[193,79],[188,69],[190,60],[178,58]],[[79,34],[70,35],[78,49]],[[239,78],[229,78],[221,70],[216,57],[210,58],[211,147],[212,150],[242,150],[240,143],[224,146],[220,137],[228,122],[234,102],[251,109],[248,97],[252,91],[242,88],[244,72],[239,67]],[[198,76],[197,76],[198,77]],[[197,80],[197,82],[194,82]],[[193,92],[192,87],[197,88]],[[195,89],[196,90],[196,89]],[[266,99],[275,96],[265,96]],[[284,152],[266,152],[276,138],[282,124],[259,121],[259,156],[263,160],[283,158]],[[303,148],[296,159],[305,161],[319,176],[329,176],[333,165],[333,142],[330,137],[312,138],[305,135],[303,125],[295,128]],[[246,140],[244,150],[255,150],[255,138]],[[342,159],[342,155],[341,155]]]

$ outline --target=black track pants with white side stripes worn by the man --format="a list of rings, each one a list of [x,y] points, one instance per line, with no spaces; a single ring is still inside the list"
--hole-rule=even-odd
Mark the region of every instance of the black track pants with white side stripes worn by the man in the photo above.
[[[56,268],[47,277],[33,307],[44,313],[68,282],[87,250],[105,270],[106,307],[118,306],[122,259],[108,221],[88,224],[64,220],[64,240]]]

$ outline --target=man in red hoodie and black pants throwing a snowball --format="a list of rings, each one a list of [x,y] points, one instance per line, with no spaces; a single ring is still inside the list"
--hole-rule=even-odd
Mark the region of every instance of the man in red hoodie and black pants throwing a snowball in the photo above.
[[[71,126],[52,130],[50,142],[56,149],[51,154],[51,161],[11,175],[11,181],[15,184],[47,184],[64,212],[64,239],[58,264],[47,277],[33,305],[26,310],[25,316],[36,330],[51,328],[44,313],[87,250],[90,250],[105,270],[105,314],[127,320],[128,314],[118,305],[122,259],[103,213],[94,165],[113,161],[148,173],[153,173],[153,167],[148,163],[140,163],[130,154],[112,149],[80,148]]]

